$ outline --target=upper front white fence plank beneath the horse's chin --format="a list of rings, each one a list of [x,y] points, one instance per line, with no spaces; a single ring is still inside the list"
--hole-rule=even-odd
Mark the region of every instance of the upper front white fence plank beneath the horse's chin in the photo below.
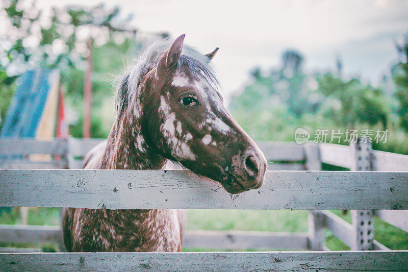
[[[3,169],[0,206],[408,209],[407,179],[407,172],[268,171],[260,189],[232,195],[190,171]]]

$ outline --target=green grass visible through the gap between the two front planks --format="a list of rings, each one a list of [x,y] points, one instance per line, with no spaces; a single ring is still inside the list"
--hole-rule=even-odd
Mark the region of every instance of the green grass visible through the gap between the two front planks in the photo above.
[[[28,213],[29,225],[60,224],[59,208],[31,208]],[[351,223],[348,212],[343,215],[340,210],[333,210],[347,222]],[[0,215],[0,224],[21,224],[19,209]],[[308,211],[305,210],[188,210],[188,230],[242,230],[272,232],[307,232]],[[336,238],[330,231],[325,231],[326,246],[330,250],[349,250],[348,246]],[[392,250],[408,250],[408,233],[374,217],[374,238]],[[20,246],[25,248],[43,248],[53,250],[56,245],[33,243],[0,243],[0,246]],[[270,249],[278,250],[278,249]],[[203,251],[198,248],[183,248],[183,251]],[[205,251],[225,251],[223,249],[206,249]],[[251,249],[243,251],[253,251]]]

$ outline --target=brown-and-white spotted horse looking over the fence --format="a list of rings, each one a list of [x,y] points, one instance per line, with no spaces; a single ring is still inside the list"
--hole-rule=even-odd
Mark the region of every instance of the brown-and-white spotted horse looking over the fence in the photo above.
[[[164,169],[173,161],[232,194],[258,189],[267,161],[223,105],[211,63],[218,47],[204,55],[184,37],[150,46],[125,72],[112,130],[84,168]],[[63,215],[70,252],[181,251],[185,226],[185,210],[67,208]]]

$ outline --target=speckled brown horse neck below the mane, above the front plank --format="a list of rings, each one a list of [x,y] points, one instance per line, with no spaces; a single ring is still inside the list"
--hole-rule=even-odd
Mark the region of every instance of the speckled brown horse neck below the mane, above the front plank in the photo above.
[[[162,169],[166,161],[151,152],[139,118],[127,111],[118,115],[108,137],[101,169]]]

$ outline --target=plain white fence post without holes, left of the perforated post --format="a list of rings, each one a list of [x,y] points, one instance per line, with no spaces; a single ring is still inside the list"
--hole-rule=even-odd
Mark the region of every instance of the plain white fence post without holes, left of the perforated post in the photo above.
[[[322,163],[320,160],[319,145],[306,143],[303,147],[306,158],[305,168],[307,170],[320,171]],[[324,217],[319,211],[311,210],[308,215],[309,220],[309,241],[310,249],[313,251],[324,250]]]

